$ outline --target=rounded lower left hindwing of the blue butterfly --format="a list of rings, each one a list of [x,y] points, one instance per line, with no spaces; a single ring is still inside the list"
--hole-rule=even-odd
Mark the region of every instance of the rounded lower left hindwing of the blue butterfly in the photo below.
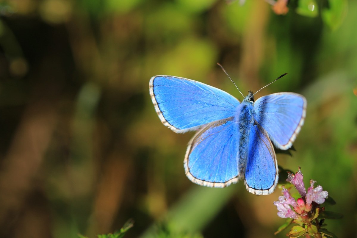
[[[233,117],[209,123],[188,144],[184,167],[194,183],[225,187],[238,181],[238,127]]]

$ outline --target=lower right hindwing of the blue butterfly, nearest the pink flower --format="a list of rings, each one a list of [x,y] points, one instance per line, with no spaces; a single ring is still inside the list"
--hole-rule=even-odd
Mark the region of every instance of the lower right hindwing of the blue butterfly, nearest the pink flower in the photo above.
[[[248,192],[267,195],[278,183],[278,163],[267,132],[257,122],[251,127],[245,172]]]

